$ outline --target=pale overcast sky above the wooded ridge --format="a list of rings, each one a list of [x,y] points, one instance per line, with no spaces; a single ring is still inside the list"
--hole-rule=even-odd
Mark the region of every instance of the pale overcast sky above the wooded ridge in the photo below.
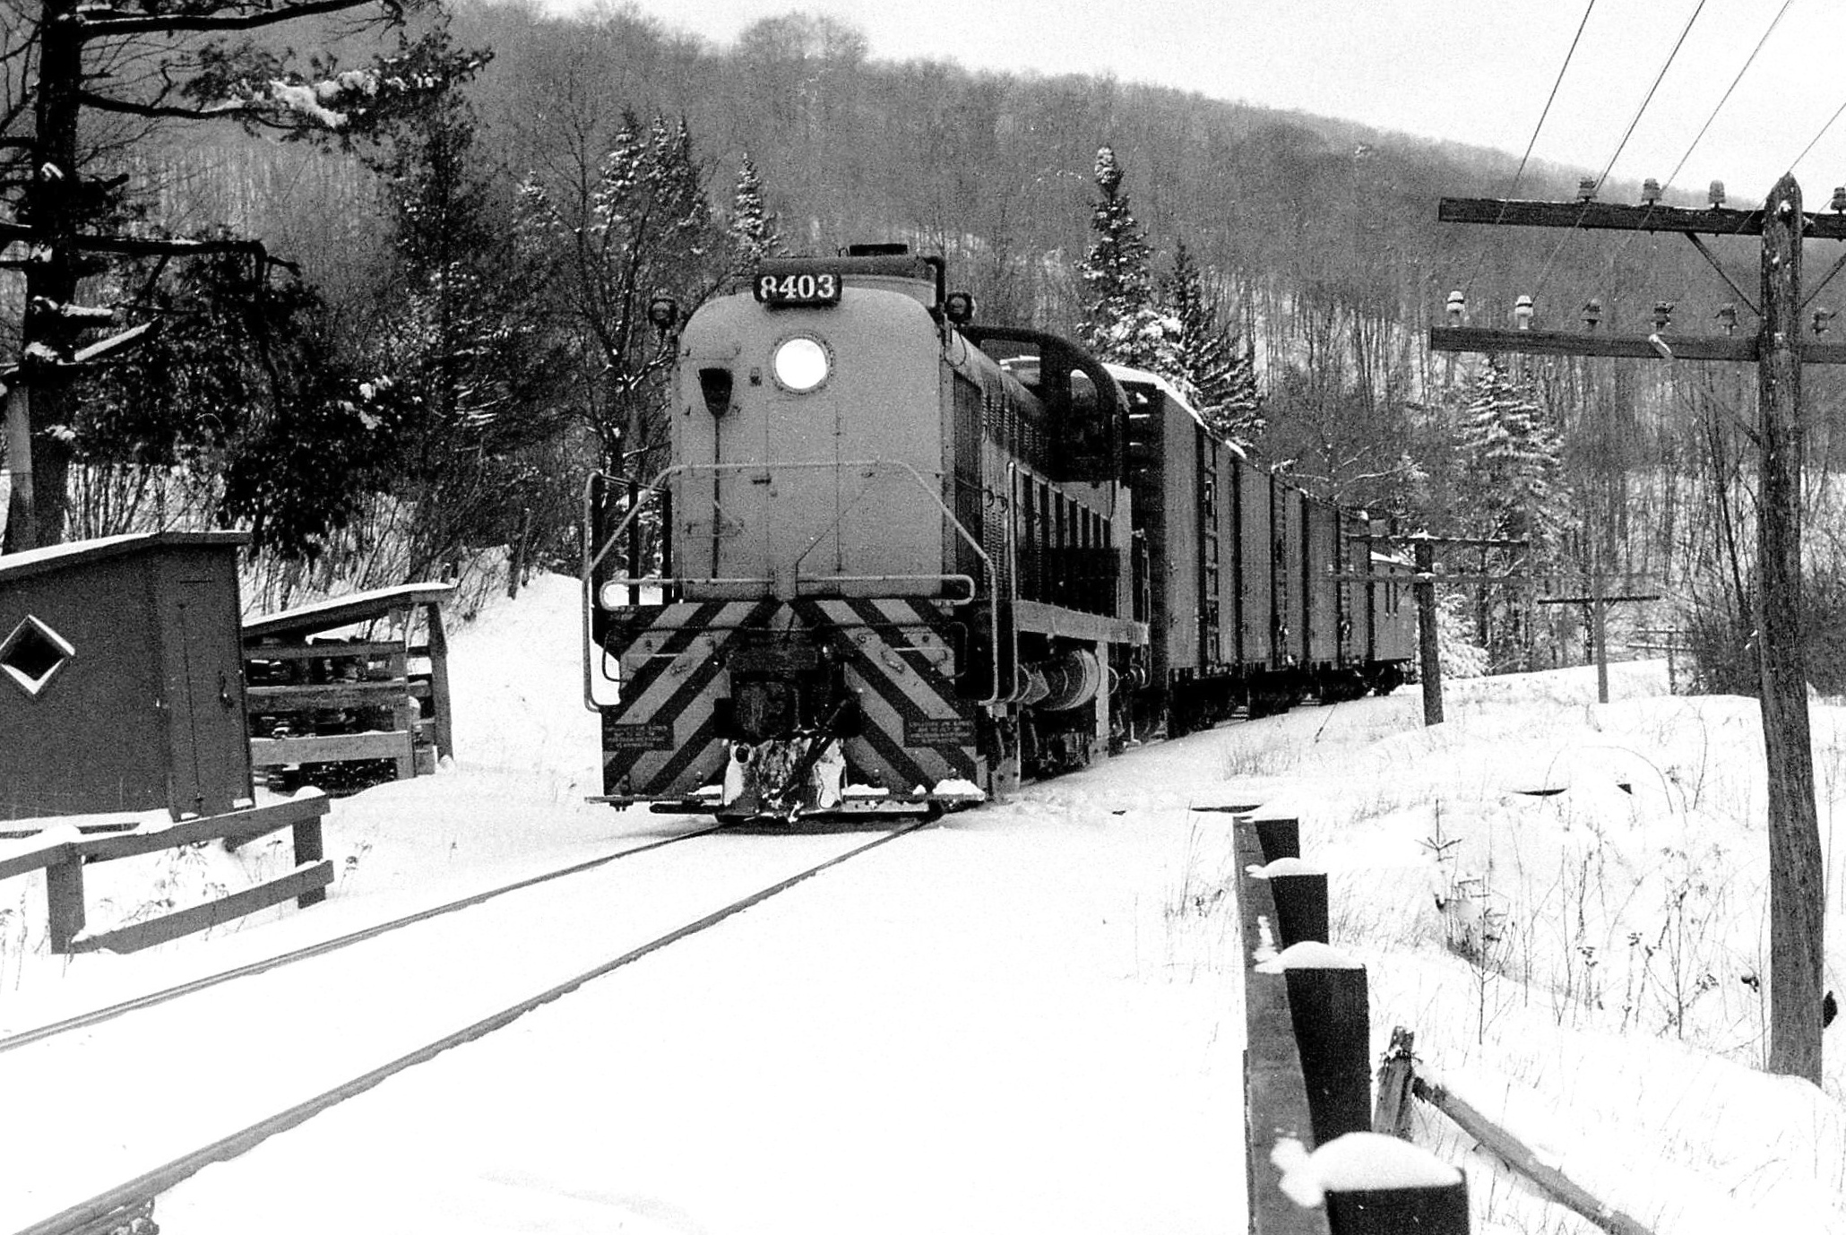
[[[1115,74],[1514,155],[1538,129],[1534,159],[1600,172],[1621,148],[1612,175],[1628,181],[1667,181],[1684,161],[1674,188],[1702,194],[1722,179],[1732,205],[1761,199],[1791,164],[1809,209],[1846,183],[1846,116],[1802,157],[1846,103],[1840,0],[1791,0],[1722,107],[1781,0],[1597,0],[1541,129],[1588,0],[637,0],[637,7],[716,44],[761,17],[827,13],[866,31],[877,59]]]

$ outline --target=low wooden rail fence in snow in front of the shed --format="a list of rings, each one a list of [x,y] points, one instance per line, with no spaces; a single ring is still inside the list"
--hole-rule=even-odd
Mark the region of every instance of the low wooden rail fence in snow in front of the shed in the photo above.
[[[327,814],[327,805],[325,796],[314,794],[270,807],[186,820],[148,833],[133,831],[55,842],[42,849],[0,858],[0,879],[35,869],[44,871],[48,934],[54,953],[133,953],[216,927],[233,917],[255,914],[290,897],[299,908],[325,901],[325,888],[334,881],[334,866],[323,858],[321,849],[321,818]],[[227,847],[234,849],[284,827],[294,829],[295,842],[295,869],[288,875],[116,930],[83,934],[83,868],[87,864],[177,849],[205,840],[223,840]]]

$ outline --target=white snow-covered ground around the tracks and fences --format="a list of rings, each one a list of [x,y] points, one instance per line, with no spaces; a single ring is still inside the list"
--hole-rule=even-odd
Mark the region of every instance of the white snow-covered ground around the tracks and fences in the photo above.
[[[690,827],[581,803],[596,731],[578,701],[576,622],[574,585],[546,578],[460,626],[458,762],[334,803],[340,881],[321,906],[66,960],[44,953],[37,881],[0,884],[0,1034]],[[1619,666],[1615,696],[1593,703],[1589,670],[1480,679],[1449,683],[1436,729],[1407,689],[1130,751],[951,816],[417,1065],[209,1167],[155,1217],[168,1233],[247,1231],[258,1211],[262,1229],[303,1231],[1239,1229],[1229,820],[1191,809],[1263,801],[1298,814],[1303,853],[1333,871],[1335,945],[1368,965],[1379,1052],[1394,1025],[1416,1030],[1420,1067],[1661,1235],[1846,1231],[1840,1026],[1826,1091],[1754,1071],[1767,1050],[1756,709],[1667,696],[1660,665]],[[1815,709],[1829,914],[1842,718]],[[460,947],[476,964],[426,988],[535,993],[563,936],[613,956],[646,929],[644,908],[709,912],[738,869],[761,864],[768,882],[816,838],[713,840],[727,844],[628,858],[574,899],[476,917],[500,923]],[[777,855],[775,840],[809,849]],[[694,851],[724,858],[668,862]],[[277,844],[90,868],[90,925],[286,862]],[[532,964],[493,964],[508,951]],[[366,945],[338,956],[321,991],[364,1025],[388,1004],[353,991],[404,962],[367,962]],[[415,997],[438,1021],[476,1006],[447,999]],[[233,1026],[220,1010],[63,1047],[74,1080],[37,1102],[78,1098],[92,1119],[76,1143],[35,1150],[33,1193],[50,1196],[61,1170],[74,1185],[59,1163],[118,1152],[129,1124],[192,1135],[214,1106],[234,1122],[214,1095],[377,1061],[351,1025],[306,1017],[297,1041],[288,1017]],[[164,1082],[131,1098],[129,1121],[111,1106],[120,1084],[85,1085],[83,1050],[96,1076],[105,1054],[140,1050]],[[30,1050],[0,1052],[0,1093],[15,1095],[0,1122],[30,1141],[18,1126],[44,1111],[18,1102],[31,1091],[9,1085],[9,1054]],[[1468,1167],[1477,1231],[1593,1229],[1440,1117],[1423,1111],[1418,1139]],[[18,1180],[0,1170],[0,1200],[24,1193]],[[20,1211],[37,1213],[0,1205]]]

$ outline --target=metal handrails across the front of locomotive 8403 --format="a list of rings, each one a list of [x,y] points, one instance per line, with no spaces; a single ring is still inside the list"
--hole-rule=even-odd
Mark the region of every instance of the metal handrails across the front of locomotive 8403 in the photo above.
[[[980,707],[989,707],[993,703],[999,703],[1001,701],[1001,657],[999,657],[999,646],[1001,646],[1001,611],[999,611],[999,600],[1001,600],[1001,594],[999,594],[999,572],[995,570],[993,559],[988,556],[988,550],[980,546],[980,541],[975,539],[975,535],[969,534],[969,530],[962,526],[962,521],[954,517],[954,511],[951,511],[949,504],[941,500],[941,495],[936,493],[929,486],[929,482],[923,478],[923,473],[919,473],[910,463],[905,463],[903,460],[801,460],[801,462],[788,460],[788,462],[772,462],[772,463],[764,463],[764,462],[749,462],[749,463],[744,463],[744,462],[738,462],[738,463],[674,463],[674,465],[663,469],[650,484],[641,486],[641,497],[653,497],[657,493],[665,493],[666,491],[665,489],[666,480],[672,478],[672,476],[676,476],[676,474],[692,474],[692,473],[718,474],[718,473],[735,473],[735,471],[764,471],[764,473],[768,473],[768,471],[775,471],[775,469],[786,469],[786,471],[834,469],[834,471],[838,471],[838,469],[845,469],[845,467],[869,467],[873,471],[879,471],[879,469],[901,469],[903,473],[906,473],[917,484],[917,487],[923,489],[923,493],[929,495],[929,498],[932,502],[936,502],[936,508],[941,510],[941,517],[949,521],[949,526],[954,528],[956,535],[960,535],[964,541],[967,541],[967,546],[975,550],[977,558],[980,558],[982,572],[988,578],[988,596],[989,596],[989,604],[988,604],[988,626],[989,626],[988,646],[993,648],[993,653],[988,659],[991,661],[993,674],[991,674],[991,689],[988,690],[988,698],[980,700],[978,705]],[[609,550],[615,548],[617,541],[620,541],[620,537],[628,530],[628,526],[635,521],[635,517],[646,506],[644,500],[637,500],[633,506],[629,506],[628,513],[622,515],[622,521],[615,526],[615,530],[609,532],[607,539],[600,546],[594,545],[594,541],[591,539],[591,535],[593,535],[591,534],[593,487],[594,487],[594,484],[596,484],[596,480],[600,476],[604,476],[604,473],[594,473],[594,474],[591,474],[589,480],[583,482],[583,707],[587,707],[593,713],[600,711],[600,707],[596,705],[596,692],[594,692],[594,661],[593,661],[593,655],[594,655],[594,639],[591,637],[591,617],[589,615],[591,615],[591,606],[596,606],[596,604],[602,602],[602,598],[596,594],[594,572],[596,572],[596,567],[602,565],[604,558],[609,556]],[[866,489],[860,491],[860,497],[864,497],[866,491],[869,491],[869,486],[866,486]],[[855,498],[855,502],[857,502],[857,498]],[[842,511],[840,517],[844,519],[844,511]],[[827,528],[823,528],[820,534],[816,534],[814,539],[810,539],[801,548],[801,552],[796,556],[796,559],[794,559],[792,565],[799,565],[799,561],[803,558],[807,558],[809,552],[827,537],[827,532],[831,528],[838,526],[838,522],[840,522],[840,519],[834,519],[834,522],[831,522]],[[971,576],[967,576],[967,574],[873,574],[873,576],[864,576],[864,574],[860,574],[860,576],[853,576],[853,574],[829,574],[829,576],[816,576],[816,578],[825,578],[827,582],[840,582],[840,583],[897,583],[897,582],[943,582],[943,583],[949,583],[949,582],[965,582],[967,583],[967,596],[947,598],[945,604],[953,604],[953,606],[965,606],[965,604],[973,602],[975,596],[978,594],[978,589],[975,587],[975,580]],[[620,578],[620,580],[611,580],[611,583],[617,583],[617,585],[622,585],[622,587],[641,587],[644,583],[652,583],[655,587],[672,587],[672,585],[685,585],[685,583],[733,583],[733,585],[764,587],[764,585],[772,585],[773,580],[762,580],[762,578],[722,578],[722,576],[711,576],[711,578],[698,578],[696,580],[692,576],[661,574],[661,576],[648,576],[648,578]],[[796,587],[799,589],[799,580],[796,580]]]

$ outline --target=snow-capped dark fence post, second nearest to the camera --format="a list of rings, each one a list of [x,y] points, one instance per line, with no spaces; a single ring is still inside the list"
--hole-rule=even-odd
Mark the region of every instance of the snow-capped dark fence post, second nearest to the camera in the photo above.
[[[1289,982],[1314,1145],[1372,1132],[1372,1013],[1366,967],[1325,943],[1290,943],[1257,965]]]

